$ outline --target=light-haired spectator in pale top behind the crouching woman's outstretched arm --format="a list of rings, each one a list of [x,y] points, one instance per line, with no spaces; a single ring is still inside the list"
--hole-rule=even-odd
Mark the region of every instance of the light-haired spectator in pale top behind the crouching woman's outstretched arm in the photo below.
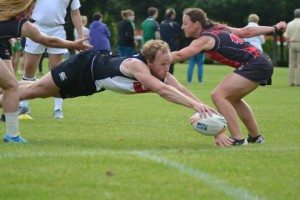
[[[248,17],[248,25],[247,26],[258,26],[259,17],[256,14],[250,14]],[[263,51],[262,44],[265,43],[265,37],[263,35],[258,35],[252,38],[244,38],[246,42],[249,42],[259,50]]]

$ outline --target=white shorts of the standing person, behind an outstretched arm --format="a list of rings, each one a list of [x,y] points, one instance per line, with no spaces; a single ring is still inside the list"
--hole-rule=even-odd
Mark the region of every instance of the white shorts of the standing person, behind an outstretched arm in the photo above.
[[[38,25],[35,23],[37,28],[49,36],[58,37],[61,39],[66,39],[66,31],[64,29],[64,26],[44,26],[44,25]],[[25,51],[31,54],[42,54],[45,52],[46,47],[44,45],[41,45],[39,43],[33,42],[31,39],[26,38],[26,45],[25,45]],[[68,49],[63,48],[52,48],[47,47],[47,53],[48,54],[64,54],[67,53]]]

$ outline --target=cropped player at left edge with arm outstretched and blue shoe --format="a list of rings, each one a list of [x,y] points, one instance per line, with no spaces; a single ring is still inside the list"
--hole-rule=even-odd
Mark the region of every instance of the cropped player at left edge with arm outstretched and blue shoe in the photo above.
[[[10,58],[10,38],[28,37],[32,40],[51,47],[65,47],[77,50],[88,50],[90,45],[84,40],[67,41],[49,37],[41,33],[34,25],[28,22],[35,5],[35,0],[1,1],[0,2],[0,87],[3,89],[2,104],[6,120],[6,135],[4,142],[26,143],[19,136],[18,125],[18,82],[14,76]],[[14,9],[11,9],[11,8]]]

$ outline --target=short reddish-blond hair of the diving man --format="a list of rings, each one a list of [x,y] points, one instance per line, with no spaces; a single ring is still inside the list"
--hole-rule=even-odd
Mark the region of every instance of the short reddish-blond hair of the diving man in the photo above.
[[[146,60],[153,61],[158,51],[161,53],[170,52],[168,43],[162,40],[149,40],[143,45],[141,53]]]

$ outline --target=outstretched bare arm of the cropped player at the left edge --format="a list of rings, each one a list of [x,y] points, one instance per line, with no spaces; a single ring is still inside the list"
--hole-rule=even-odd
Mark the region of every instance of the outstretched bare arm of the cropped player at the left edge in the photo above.
[[[92,48],[91,45],[87,45],[83,43],[87,38],[83,38],[76,41],[69,41],[57,37],[51,37],[40,32],[36,26],[32,25],[28,21],[23,24],[21,35],[23,37],[28,37],[32,39],[34,42],[40,43],[47,47],[68,48],[68,49],[75,49],[78,51],[88,50]]]

